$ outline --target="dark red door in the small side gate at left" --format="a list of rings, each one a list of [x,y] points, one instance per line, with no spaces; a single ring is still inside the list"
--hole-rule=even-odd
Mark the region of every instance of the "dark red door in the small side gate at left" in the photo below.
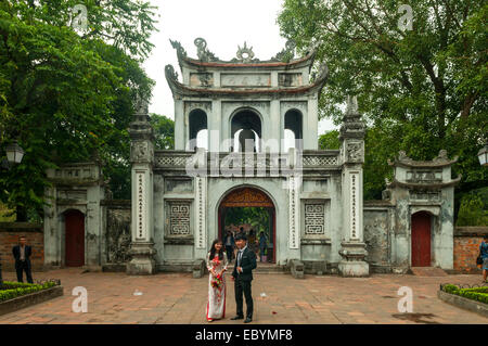
[[[85,215],[78,210],[65,214],[66,267],[85,265]]]

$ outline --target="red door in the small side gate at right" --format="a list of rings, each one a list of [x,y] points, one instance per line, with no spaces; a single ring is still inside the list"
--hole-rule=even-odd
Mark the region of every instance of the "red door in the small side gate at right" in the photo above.
[[[412,215],[412,267],[431,267],[431,215]]]

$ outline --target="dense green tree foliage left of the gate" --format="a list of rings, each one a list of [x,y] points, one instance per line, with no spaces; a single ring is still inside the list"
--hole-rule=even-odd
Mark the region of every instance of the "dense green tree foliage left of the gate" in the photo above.
[[[66,23],[82,3],[88,27]],[[137,95],[153,81],[140,67],[151,52],[154,13],[132,0],[0,2],[0,151],[17,139],[21,165],[0,172],[0,200],[39,213],[46,169],[100,158],[111,175],[128,159],[127,128]]]

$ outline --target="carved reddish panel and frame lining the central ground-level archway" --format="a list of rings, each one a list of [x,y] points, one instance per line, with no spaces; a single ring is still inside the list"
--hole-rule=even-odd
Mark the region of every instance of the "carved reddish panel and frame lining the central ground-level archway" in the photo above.
[[[272,234],[270,234],[270,239],[272,240],[272,254],[268,252],[269,255],[272,255],[269,258],[269,261],[275,262],[277,258],[277,209],[274,207],[274,203],[270,198],[270,196],[264,191],[254,188],[254,187],[242,187],[237,189],[233,189],[227,193],[227,195],[221,200],[218,208],[218,227],[219,227],[219,239],[223,239],[224,232],[224,220],[226,220],[226,212],[228,208],[239,208],[239,207],[262,207],[268,210],[269,220],[271,225],[269,226],[269,230]]]

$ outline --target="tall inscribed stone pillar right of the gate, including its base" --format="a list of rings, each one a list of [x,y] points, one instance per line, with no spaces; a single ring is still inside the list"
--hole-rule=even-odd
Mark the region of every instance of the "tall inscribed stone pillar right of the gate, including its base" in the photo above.
[[[364,125],[356,98],[348,97],[341,127],[343,165],[343,241],[338,270],[343,277],[367,277],[370,273],[363,241],[362,164],[364,163]]]

